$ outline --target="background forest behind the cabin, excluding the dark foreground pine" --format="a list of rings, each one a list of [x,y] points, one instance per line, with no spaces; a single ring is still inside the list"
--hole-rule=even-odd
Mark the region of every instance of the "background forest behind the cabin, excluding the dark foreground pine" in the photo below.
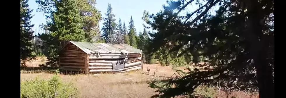
[[[143,32],[136,32],[132,16],[126,23],[121,18],[116,19],[111,4],[108,4],[106,13],[101,15],[95,0],[36,0],[39,4],[36,11],[45,13],[48,21],[39,25],[38,31],[33,31],[36,26],[31,24],[32,9],[27,1],[21,0],[22,67],[36,56],[47,56],[48,62],[43,66],[57,67],[59,52],[67,41],[128,44],[143,51],[144,63],[159,61],[166,66],[186,65],[184,57],[164,56],[167,51],[165,48],[156,54],[148,54],[151,31],[144,27]],[[101,30],[100,21],[104,21]]]

